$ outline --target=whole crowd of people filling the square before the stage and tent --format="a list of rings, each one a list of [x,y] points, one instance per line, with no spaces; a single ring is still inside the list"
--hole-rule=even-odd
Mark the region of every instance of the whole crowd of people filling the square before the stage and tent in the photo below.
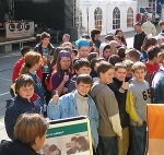
[[[131,48],[121,29],[102,43],[96,28],[75,43],[65,34],[56,48],[44,32],[23,47],[4,116],[12,141],[1,142],[0,154],[37,154],[48,128],[42,116],[87,116],[94,155],[147,153],[147,104],[164,103],[164,22],[156,38],[148,23],[134,24]]]

